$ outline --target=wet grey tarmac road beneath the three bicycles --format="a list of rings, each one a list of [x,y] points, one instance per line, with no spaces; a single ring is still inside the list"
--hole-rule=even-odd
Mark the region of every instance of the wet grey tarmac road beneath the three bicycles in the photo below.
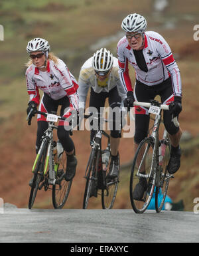
[[[0,242],[153,243],[199,241],[199,214],[131,209],[5,209]]]

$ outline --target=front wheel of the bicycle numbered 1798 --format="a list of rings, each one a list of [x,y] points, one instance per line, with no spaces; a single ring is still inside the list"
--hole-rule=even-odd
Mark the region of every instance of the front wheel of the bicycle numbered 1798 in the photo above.
[[[153,157],[153,140],[145,138],[138,146],[133,160],[130,178],[130,199],[135,213],[143,213],[152,198],[155,187],[155,158]],[[143,186],[145,192],[137,197],[135,192],[139,186]],[[139,185],[138,185],[139,184]]]

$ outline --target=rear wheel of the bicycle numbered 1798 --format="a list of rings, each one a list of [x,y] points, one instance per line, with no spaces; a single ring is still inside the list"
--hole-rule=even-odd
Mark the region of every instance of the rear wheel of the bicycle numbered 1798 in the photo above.
[[[160,187],[156,187],[155,190],[155,209],[157,213],[163,209],[163,206],[165,204],[165,198],[166,193],[168,190],[168,184],[170,180],[170,174],[168,174],[167,171],[167,165],[170,158],[170,140],[168,138],[168,135],[165,139],[161,141],[160,146],[160,160],[159,160],[159,166],[161,168],[161,176],[160,176]]]

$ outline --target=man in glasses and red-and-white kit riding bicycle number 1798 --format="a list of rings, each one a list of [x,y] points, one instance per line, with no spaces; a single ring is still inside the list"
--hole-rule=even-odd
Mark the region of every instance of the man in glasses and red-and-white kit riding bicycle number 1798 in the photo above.
[[[180,146],[182,135],[180,128],[174,126],[172,115],[178,116],[182,110],[182,86],[180,71],[165,39],[159,33],[145,32],[146,19],[133,13],[125,17],[121,28],[125,31],[117,44],[119,60],[119,77],[127,93],[124,106],[133,107],[135,100],[149,102],[160,95],[164,104],[169,104],[170,111],[164,111],[165,128],[171,142],[168,172],[174,174],[180,168]],[[128,63],[135,68],[136,82],[134,92],[129,78]],[[149,114],[147,108],[135,107],[135,150],[149,129]],[[146,188],[146,180],[142,178],[135,188],[134,195],[142,197]]]

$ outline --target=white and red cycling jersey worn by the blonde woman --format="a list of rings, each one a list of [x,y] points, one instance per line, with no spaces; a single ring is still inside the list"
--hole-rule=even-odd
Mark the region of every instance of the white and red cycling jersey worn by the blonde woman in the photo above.
[[[34,64],[31,64],[26,71],[27,90],[29,100],[34,101],[38,106],[40,102],[39,90],[42,90],[53,100],[59,100],[64,96],[70,98],[70,103],[78,109],[78,82],[68,70],[66,64],[58,59],[58,64],[48,59],[46,71],[40,71]]]

